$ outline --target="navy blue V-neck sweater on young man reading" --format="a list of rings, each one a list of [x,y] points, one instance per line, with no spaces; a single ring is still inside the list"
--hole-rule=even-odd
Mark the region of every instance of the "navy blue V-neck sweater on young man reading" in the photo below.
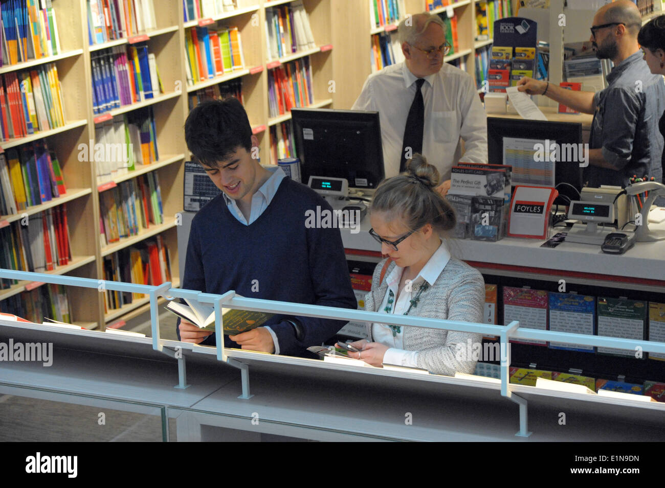
[[[305,212],[316,212],[317,205],[331,210],[317,193],[285,177],[263,214],[246,226],[231,215],[223,195],[215,197],[192,220],[182,287],[356,309],[338,228],[305,227]],[[284,355],[306,356],[307,347],[320,345],[345,323],[299,316],[305,334],[298,341],[283,317],[265,325],[277,335]],[[215,335],[203,344],[214,345]],[[239,347],[228,336],[225,345]]]

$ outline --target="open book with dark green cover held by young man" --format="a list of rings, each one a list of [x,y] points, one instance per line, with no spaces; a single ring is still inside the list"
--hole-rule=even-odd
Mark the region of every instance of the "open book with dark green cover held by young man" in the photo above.
[[[199,303],[196,300],[185,299],[185,301],[187,305],[172,300],[166,305],[166,308],[178,315],[178,317],[194,325],[198,325],[204,331],[215,331],[215,307],[212,305],[203,305],[203,303]],[[222,308],[221,314],[224,333],[229,335],[261,327],[261,325],[275,315],[274,313],[229,308]]]

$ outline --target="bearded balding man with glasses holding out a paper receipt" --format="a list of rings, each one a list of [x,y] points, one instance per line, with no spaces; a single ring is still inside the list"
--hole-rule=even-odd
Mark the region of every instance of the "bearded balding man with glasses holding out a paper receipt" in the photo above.
[[[662,179],[663,137],[658,118],[665,110],[665,83],[642,60],[637,35],[642,18],[636,5],[618,0],[600,7],[591,38],[600,59],[614,62],[608,86],[600,92],[565,90],[545,81],[522,78],[517,89],[545,95],[570,108],[594,114],[589,137],[589,166],[583,181],[589,187],[626,187],[630,177]]]

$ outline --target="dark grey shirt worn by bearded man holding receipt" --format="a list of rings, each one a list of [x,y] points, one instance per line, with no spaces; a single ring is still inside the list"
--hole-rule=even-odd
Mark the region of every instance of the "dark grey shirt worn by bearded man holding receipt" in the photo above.
[[[594,97],[589,147],[602,149],[605,161],[616,171],[589,165],[584,181],[589,187],[625,187],[632,175],[662,181],[663,137],[658,120],[665,110],[663,77],[651,74],[638,51],[614,66],[607,82],[608,87]]]

